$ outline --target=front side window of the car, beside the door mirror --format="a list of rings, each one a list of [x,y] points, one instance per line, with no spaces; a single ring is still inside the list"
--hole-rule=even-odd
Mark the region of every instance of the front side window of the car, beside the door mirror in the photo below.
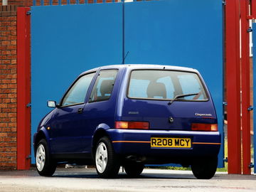
[[[85,102],[85,96],[94,75],[95,73],[90,73],[79,78],[63,98],[61,106]]]

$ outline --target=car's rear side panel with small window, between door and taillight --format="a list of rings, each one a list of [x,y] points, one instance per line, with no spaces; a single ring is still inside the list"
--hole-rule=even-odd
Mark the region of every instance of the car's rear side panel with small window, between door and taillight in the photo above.
[[[117,78],[117,69],[100,70],[92,91],[90,98],[85,105],[85,115],[87,128],[87,151],[91,150],[92,136],[95,129],[100,124],[105,124],[109,127],[114,127],[114,114],[116,109],[117,90],[119,85],[119,78]]]

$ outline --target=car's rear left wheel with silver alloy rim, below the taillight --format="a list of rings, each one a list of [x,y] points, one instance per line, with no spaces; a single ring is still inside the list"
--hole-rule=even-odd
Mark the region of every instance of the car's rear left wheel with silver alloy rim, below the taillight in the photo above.
[[[114,178],[120,169],[119,157],[114,153],[108,137],[102,137],[95,150],[95,164],[100,178]]]

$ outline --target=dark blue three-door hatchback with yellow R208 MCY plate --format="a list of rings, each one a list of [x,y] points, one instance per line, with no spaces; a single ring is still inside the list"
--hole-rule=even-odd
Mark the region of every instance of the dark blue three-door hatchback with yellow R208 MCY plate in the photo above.
[[[145,164],[191,166],[212,178],[220,132],[203,78],[170,65],[109,65],[73,82],[33,136],[36,169],[52,176],[57,164],[92,164],[101,178],[131,177]]]

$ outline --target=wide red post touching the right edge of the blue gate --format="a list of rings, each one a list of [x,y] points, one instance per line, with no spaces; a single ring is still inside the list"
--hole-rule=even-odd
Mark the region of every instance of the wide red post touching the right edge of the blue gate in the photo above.
[[[240,0],[226,0],[226,82],[228,101],[228,174],[241,174]]]

